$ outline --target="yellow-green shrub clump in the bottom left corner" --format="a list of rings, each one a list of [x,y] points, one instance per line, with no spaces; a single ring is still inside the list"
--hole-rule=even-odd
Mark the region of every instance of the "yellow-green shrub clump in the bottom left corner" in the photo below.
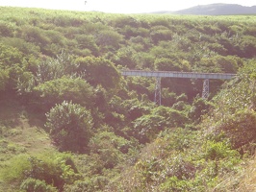
[[[16,156],[1,169],[1,180],[20,185],[26,191],[62,191],[64,184],[80,179],[70,154],[43,153]]]

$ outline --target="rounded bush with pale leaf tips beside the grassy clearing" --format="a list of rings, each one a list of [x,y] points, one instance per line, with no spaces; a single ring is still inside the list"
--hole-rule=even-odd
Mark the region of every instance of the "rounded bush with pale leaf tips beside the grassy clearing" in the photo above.
[[[92,128],[90,111],[64,101],[46,113],[45,127],[60,151],[83,153],[87,150]]]

